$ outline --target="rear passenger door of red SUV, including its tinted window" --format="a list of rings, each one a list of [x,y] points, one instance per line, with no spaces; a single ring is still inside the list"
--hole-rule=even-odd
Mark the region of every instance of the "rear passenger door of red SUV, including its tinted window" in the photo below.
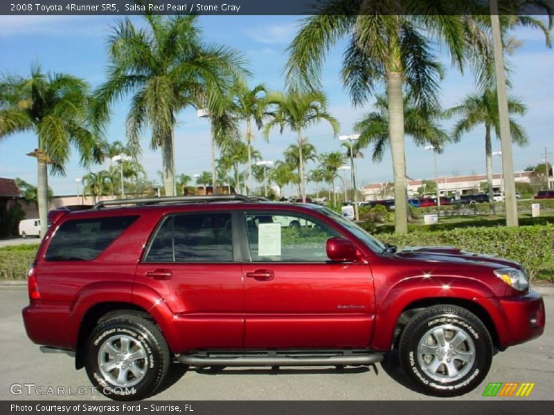
[[[244,292],[228,212],[167,216],[137,267],[136,284],[168,304],[183,335],[181,351],[242,347]]]

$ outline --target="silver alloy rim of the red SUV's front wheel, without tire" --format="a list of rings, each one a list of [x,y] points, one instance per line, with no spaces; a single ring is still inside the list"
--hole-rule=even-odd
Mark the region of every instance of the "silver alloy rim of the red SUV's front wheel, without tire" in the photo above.
[[[418,362],[429,378],[452,382],[473,367],[475,344],[470,333],[450,324],[435,326],[418,344]]]

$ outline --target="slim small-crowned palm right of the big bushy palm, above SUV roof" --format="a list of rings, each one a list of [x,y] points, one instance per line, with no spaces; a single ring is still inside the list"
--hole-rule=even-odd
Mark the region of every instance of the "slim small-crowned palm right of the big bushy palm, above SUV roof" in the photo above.
[[[252,189],[252,141],[254,135],[252,133],[252,121],[256,122],[258,129],[262,128],[262,118],[265,115],[267,102],[265,94],[267,90],[264,84],[258,84],[249,89],[244,82],[238,82],[233,88],[235,94],[235,112],[240,120],[246,121],[246,138],[247,156],[248,156],[248,185]]]

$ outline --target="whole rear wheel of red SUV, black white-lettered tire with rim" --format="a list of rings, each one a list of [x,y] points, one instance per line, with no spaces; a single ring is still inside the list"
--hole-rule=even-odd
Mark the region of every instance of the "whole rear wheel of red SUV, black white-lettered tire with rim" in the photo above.
[[[166,340],[156,324],[140,315],[122,313],[101,321],[85,347],[89,379],[101,394],[114,400],[147,398],[168,374]]]

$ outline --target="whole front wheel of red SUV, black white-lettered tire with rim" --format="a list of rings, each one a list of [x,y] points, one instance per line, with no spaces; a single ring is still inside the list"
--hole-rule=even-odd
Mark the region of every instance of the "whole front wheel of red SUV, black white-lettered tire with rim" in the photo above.
[[[433,396],[460,396],[488,374],[492,349],[490,333],[476,315],[438,305],[416,314],[404,327],[400,364],[416,389]]]

